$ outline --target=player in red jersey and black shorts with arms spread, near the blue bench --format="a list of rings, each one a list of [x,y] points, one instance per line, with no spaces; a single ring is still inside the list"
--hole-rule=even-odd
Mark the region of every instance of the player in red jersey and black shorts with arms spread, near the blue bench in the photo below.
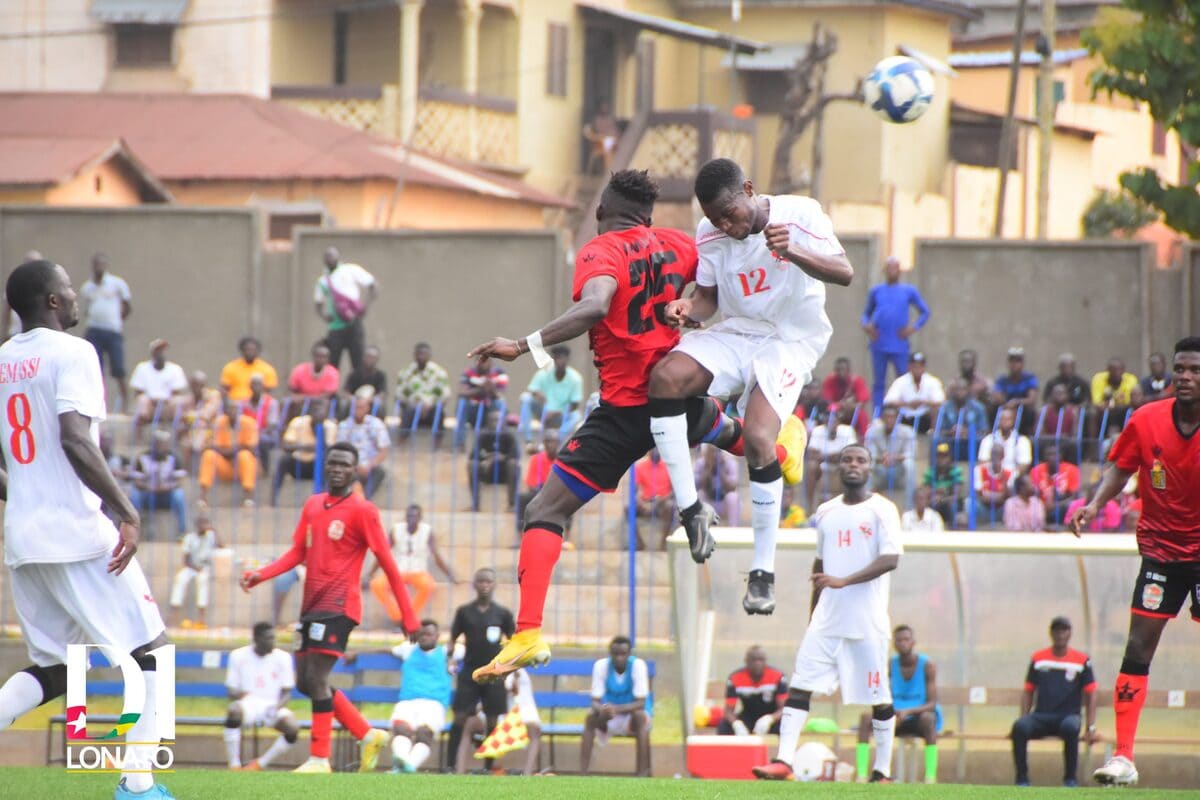
[[[388,734],[374,730],[349,698],[331,690],[329,675],[346,652],[346,640],[362,620],[359,589],[362,559],[374,553],[396,601],[407,632],[420,628],[408,601],[408,590],[388,546],[388,534],[379,510],[354,492],[359,451],[354,445],[330,445],[325,455],[325,483],[329,492],[314,494],[304,504],[292,548],[258,570],[241,576],[241,588],[250,591],[263,581],[283,575],[299,564],[307,566],[296,648],[296,688],[312,699],[312,745],[307,762],[298,772],[329,772],[329,740],[334,717],[362,744],[359,771],[367,772],[388,746]]]

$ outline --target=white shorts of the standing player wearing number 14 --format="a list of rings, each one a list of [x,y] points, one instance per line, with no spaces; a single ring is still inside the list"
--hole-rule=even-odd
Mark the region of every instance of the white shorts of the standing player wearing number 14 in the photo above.
[[[888,640],[805,633],[796,651],[796,672],[788,686],[820,694],[833,694],[841,686],[841,702],[846,705],[890,703]]]

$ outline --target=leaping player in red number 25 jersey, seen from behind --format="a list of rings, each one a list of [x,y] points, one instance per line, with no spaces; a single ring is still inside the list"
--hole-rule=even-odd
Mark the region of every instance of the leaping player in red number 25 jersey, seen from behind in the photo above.
[[[646,172],[614,173],[596,209],[600,234],[575,259],[575,305],[524,338],[494,338],[470,353],[504,361],[530,353],[544,367],[551,361],[545,348],[588,331],[600,372],[600,405],[559,450],[550,477],[526,507],[517,632],[474,672],[476,681],[550,660],[541,620],[563,527],[596,493],[616,489],[630,464],[654,446],[646,405],[650,368],[679,341],[664,311],[695,279],[698,259],[690,235],[650,225],[658,192]],[[740,425],[710,398],[688,401],[688,429],[692,444],[731,447],[740,440]],[[688,534],[692,558],[703,561],[712,535],[707,529],[703,536]]]

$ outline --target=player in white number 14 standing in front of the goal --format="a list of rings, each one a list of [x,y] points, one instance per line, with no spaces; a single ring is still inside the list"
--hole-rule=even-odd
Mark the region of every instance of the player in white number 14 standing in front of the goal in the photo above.
[[[817,509],[817,557],[812,563],[812,616],[796,651],[796,672],[779,723],[779,754],[754,768],[764,780],[791,780],[793,757],[809,716],[812,692],[832,694],[841,686],[842,703],[871,706],[875,770],[871,782],[890,783],[895,710],[888,684],[888,572],[896,569],[900,512],[882,494],[866,488],[871,453],[850,445],[838,459],[844,494]]]

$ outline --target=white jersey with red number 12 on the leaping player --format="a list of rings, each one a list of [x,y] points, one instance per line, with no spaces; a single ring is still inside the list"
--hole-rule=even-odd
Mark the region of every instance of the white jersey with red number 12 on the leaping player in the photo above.
[[[846,252],[820,203],[792,194],[763,197],[770,203],[768,224],[786,224],[792,243],[821,255]],[[816,348],[818,356],[824,353],[833,335],[824,309],[824,283],[775,258],[761,233],[738,241],[704,218],[696,229],[696,283],[716,287],[718,308],[725,315],[712,330],[803,341]]]

